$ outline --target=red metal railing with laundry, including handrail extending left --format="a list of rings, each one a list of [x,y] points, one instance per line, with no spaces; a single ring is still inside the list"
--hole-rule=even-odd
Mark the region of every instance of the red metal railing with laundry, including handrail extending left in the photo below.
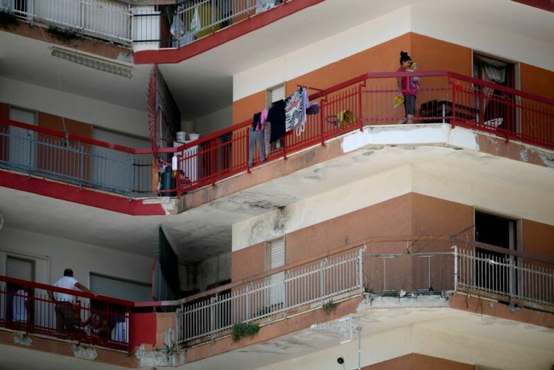
[[[394,107],[397,78],[420,76],[414,123],[450,123],[554,149],[554,100],[510,89],[449,71],[366,73],[310,96],[319,103],[319,113],[307,116],[305,132],[288,132],[265,152],[265,161],[318,144],[364,125],[404,121],[404,107]],[[254,109],[253,109],[254,110]],[[348,117],[345,119],[344,117]],[[59,136],[81,143],[132,154],[152,153],[152,148],[134,149],[44,129],[0,118],[0,123]],[[249,171],[249,127],[252,120],[208,134],[178,148],[158,148],[158,153],[176,153],[177,179],[172,190],[183,194],[243,171]],[[253,166],[261,164],[258,150]],[[161,191],[163,192],[163,191]]]

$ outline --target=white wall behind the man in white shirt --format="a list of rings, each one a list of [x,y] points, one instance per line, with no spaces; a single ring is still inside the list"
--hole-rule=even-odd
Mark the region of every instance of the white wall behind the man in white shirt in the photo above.
[[[6,273],[8,254],[37,258],[36,281],[39,283],[55,283],[67,267],[73,269],[75,279],[87,287],[91,272],[152,283],[154,258],[3,227],[0,230],[0,275]]]

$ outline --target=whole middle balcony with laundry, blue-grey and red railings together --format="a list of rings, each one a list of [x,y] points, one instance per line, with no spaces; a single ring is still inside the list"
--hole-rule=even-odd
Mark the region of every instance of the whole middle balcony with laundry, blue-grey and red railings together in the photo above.
[[[506,143],[554,149],[553,100],[447,71],[418,74],[423,83],[414,123],[449,124]],[[312,94],[319,112],[307,116],[303,133],[288,132],[279,148],[265,152],[264,164],[364,127],[401,123],[404,109],[393,106],[399,76],[409,73],[368,73]],[[164,175],[152,170],[150,148],[116,146],[0,118],[0,167],[128,197],[183,195],[262,164],[258,152],[249,152],[250,126],[248,120],[179,148],[158,148],[159,155],[177,157],[178,170],[175,177],[157,180]]]

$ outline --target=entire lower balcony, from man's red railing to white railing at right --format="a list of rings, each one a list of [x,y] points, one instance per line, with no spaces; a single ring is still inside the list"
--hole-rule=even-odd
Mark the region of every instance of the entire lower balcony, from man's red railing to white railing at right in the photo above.
[[[470,297],[479,297],[551,314],[553,267],[553,261],[542,256],[455,237],[420,235],[368,238],[179,301],[130,302],[0,276],[0,332],[24,342],[29,337],[38,341],[39,336],[76,344],[76,348],[136,351],[139,358],[146,338],[166,335],[167,340],[167,333],[176,333],[175,348],[161,356],[165,366],[171,366],[170,359],[177,356],[175,366],[182,364],[183,358],[177,360],[179,353],[186,363],[193,362],[230,348],[298,335],[313,320],[332,321],[349,313],[357,319],[370,317],[377,308],[381,310],[375,315],[395,308],[436,308],[438,317],[463,321],[467,316],[452,312],[461,309],[454,303],[458,294],[467,297],[466,303]],[[48,291],[77,297],[69,325],[57,323],[60,313]],[[152,307],[168,313],[136,313]],[[438,319],[431,311],[425,312],[431,320]],[[151,324],[143,324],[150,322],[148,315],[166,315],[167,323],[152,331]],[[92,326],[95,317],[100,325]],[[381,323],[384,328],[385,321]],[[378,320],[368,322],[380,325]],[[259,333],[241,336],[238,324]],[[211,346],[210,351],[206,346]],[[148,361],[152,359],[143,357],[140,365],[161,366],[161,362]]]

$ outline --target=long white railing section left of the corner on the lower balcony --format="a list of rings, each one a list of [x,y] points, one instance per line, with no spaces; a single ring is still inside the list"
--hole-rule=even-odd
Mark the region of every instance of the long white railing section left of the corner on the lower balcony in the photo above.
[[[177,342],[208,337],[215,340],[233,324],[276,321],[290,310],[301,312],[333,297],[359,294],[363,291],[362,259],[360,249],[267,276],[202,301],[184,303],[177,310]]]

